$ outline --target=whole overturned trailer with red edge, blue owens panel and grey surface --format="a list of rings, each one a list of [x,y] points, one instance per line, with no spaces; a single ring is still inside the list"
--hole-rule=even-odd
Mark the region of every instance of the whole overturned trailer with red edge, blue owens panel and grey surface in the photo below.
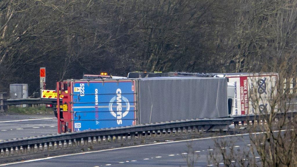
[[[57,89],[58,132],[228,117],[226,78],[65,80]]]

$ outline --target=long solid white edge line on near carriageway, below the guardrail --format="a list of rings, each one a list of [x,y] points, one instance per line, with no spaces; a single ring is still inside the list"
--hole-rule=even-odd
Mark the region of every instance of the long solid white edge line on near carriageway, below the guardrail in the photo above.
[[[286,130],[280,130],[280,131],[283,132]],[[278,132],[278,130],[275,130],[273,132]],[[257,132],[257,133],[252,133],[252,134],[261,134],[261,133],[264,133],[264,132]],[[138,145],[138,146],[128,146],[128,147],[120,147],[120,148],[113,148],[113,149],[105,149],[105,150],[98,150],[98,151],[80,152],[80,153],[74,153],[74,154],[66,154],[66,155],[58,155],[58,156],[53,156],[53,157],[39,158],[39,159],[34,159],[34,160],[26,160],[26,161],[21,161],[21,162],[5,163],[5,164],[0,164],[0,166],[26,163],[26,162],[34,162],[34,161],[40,161],[40,160],[48,160],[48,159],[66,157],[66,156],[71,156],[71,155],[82,155],[82,154],[89,154],[89,153],[96,153],[96,152],[112,151],[112,150],[118,150],[118,149],[152,146],[152,145],[158,145],[158,144],[179,143],[179,142],[185,142],[185,141],[196,141],[196,140],[213,139],[213,138],[224,138],[224,137],[232,137],[232,136],[245,136],[245,135],[249,135],[249,133],[236,134],[236,135],[225,135],[225,136],[214,136],[214,137],[206,137],[206,138],[195,138],[195,139],[187,139],[187,140],[179,140],[179,141],[170,141],[170,142],[143,144],[143,145]],[[178,155],[178,154],[176,154],[176,155]],[[129,162],[129,161],[126,161],[126,162]],[[235,161],[231,161],[231,162],[235,162]]]

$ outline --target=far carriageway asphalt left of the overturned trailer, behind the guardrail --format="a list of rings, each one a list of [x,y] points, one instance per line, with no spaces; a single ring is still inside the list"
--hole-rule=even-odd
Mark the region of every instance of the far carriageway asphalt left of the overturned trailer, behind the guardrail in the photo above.
[[[57,133],[57,119],[53,115],[0,116],[0,141]]]

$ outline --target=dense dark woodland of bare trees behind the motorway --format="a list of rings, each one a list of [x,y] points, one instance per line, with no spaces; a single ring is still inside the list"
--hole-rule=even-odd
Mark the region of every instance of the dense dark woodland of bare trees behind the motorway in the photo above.
[[[0,92],[83,73],[295,69],[297,0],[3,0]]]

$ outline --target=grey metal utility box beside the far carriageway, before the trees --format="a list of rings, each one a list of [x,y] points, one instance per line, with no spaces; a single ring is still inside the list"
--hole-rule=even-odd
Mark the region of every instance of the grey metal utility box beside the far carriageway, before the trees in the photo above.
[[[10,99],[24,99],[28,98],[28,84],[10,84]],[[18,107],[26,107],[26,104],[17,105]]]

